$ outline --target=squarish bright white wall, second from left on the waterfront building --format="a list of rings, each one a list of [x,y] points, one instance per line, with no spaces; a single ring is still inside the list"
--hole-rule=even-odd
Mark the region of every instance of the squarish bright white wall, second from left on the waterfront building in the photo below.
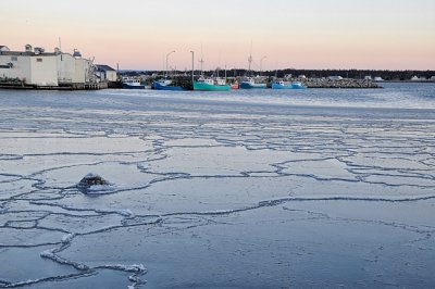
[[[32,85],[58,86],[58,62],[55,55],[30,56]]]

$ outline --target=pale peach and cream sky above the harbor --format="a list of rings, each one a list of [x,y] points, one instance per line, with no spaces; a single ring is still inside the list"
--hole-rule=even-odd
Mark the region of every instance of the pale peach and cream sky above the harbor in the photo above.
[[[0,45],[124,70],[435,70],[435,0],[2,0]],[[260,61],[263,59],[263,61]]]

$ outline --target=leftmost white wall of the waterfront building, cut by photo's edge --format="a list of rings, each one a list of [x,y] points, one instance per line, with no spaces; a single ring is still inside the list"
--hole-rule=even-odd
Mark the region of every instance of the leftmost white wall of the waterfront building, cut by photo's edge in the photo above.
[[[1,55],[0,65],[12,63],[11,68],[0,68],[0,77],[12,77],[25,79],[26,83],[32,80],[30,77],[30,58],[28,55]]]

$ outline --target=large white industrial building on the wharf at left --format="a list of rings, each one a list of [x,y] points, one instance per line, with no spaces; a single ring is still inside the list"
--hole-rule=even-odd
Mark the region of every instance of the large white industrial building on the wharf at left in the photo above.
[[[60,49],[46,52],[44,48],[26,45],[24,51],[11,51],[0,46],[0,78],[16,78],[33,86],[85,86],[95,83],[92,61],[78,51],[64,53]]]

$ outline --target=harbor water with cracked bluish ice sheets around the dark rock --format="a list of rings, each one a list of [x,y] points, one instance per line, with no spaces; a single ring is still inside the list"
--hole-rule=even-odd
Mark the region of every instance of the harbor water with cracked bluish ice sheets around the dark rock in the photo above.
[[[434,288],[435,85],[385,86],[0,91],[0,288]]]

